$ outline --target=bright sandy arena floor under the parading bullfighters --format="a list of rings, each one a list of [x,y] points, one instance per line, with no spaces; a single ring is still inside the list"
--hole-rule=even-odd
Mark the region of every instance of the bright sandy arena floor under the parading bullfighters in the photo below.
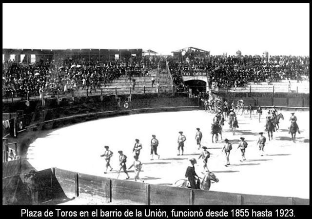
[[[223,127],[223,139],[233,143],[230,155],[232,165],[225,167],[225,155],[221,154],[224,142],[219,137],[218,143],[212,143],[211,122],[213,115],[204,111],[165,112],[137,114],[109,119],[98,119],[50,130],[36,139],[29,147],[27,159],[37,170],[50,167],[76,171],[96,176],[117,178],[119,170],[118,150],[127,155],[127,166],[133,162],[132,149],[135,139],[143,145],[139,159],[143,162],[140,177],[146,183],[172,185],[178,179],[185,179],[184,174],[189,165],[188,159],[197,159],[196,172],[202,176],[202,159],[198,156],[195,141],[196,127],[203,133],[202,145],[211,153],[209,169],[220,180],[212,184],[212,191],[234,192],[244,194],[298,197],[309,199],[309,112],[296,112],[301,134],[297,141],[291,141],[288,134],[291,111],[282,111],[285,120],[280,120],[280,129],[273,133],[273,140],[267,138],[265,155],[260,156],[256,142],[259,132],[264,132],[264,112],[261,122],[249,118],[246,114],[238,115],[239,128],[233,135],[226,122]],[[184,156],[177,156],[178,132],[183,131],[185,141]],[[150,140],[152,134],[159,140],[158,153],[150,160]],[[246,161],[240,162],[240,150],[237,150],[240,137],[248,142]],[[104,174],[104,145],[109,145],[114,152],[111,165],[114,170]],[[134,180],[133,169],[129,171]],[[121,173],[119,179],[125,179]]]

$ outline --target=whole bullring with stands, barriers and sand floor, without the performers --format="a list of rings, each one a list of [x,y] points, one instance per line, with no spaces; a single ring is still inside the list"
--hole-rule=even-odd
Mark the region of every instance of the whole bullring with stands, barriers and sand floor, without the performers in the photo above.
[[[57,62],[48,59],[44,62],[49,54],[39,56],[36,64],[6,60],[2,89],[3,204],[309,204],[309,59],[271,57],[273,67],[265,71],[274,73],[275,78],[270,78],[273,81],[268,81],[268,75],[258,75],[259,72],[242,71],[246,80],[237,84],[238,76],[228,72],[233,67],[230,64],[223,66],[220,62],[221,67],[213,70],[198,65],[201,68],[198,72],[181,67],[178,61],[181,54],[211,59],[207,66],[215,59],[209,52],[194,47],[181,53],[182,50],[176,52],[176,57],[142,56],[142,49],[132,51],[137,56],[128,50],[100,50],[101,57],[99,50],[89,50],[89,57],[94,53],[96,59],[103,60],[88,63],[75,58],[72,50],[54,51],[53,56],[60,57]],[[4,58],[11,59],[12,50],[4,51]],[[105,60],[114,58],[117,51],[122,60]],[[27,55],[31,56],[32,52],[29,50]],[[72,55],[73,58],[68,58]],[[258,61],[258,57],[240,55],[222,59],[236,61],[234,66],[242,59],[250,63],[241,68],[250,68]],[[302,77],[292,72],[283,75],[280,70],[284,67],[275,67],[274,59],[302,63],[305,67]],[[186,63],[193,61],[196,64],[196,59]],[[46,68],[51,68],[49,74],[42,73]],[[30,77],[18,81],[37,88],[46,80],[50,82],[39,90],[25,90],[23,85],[15,88],[16,78],[10,75],[15,71],[23,71]],[[99,74],[100,71],[106,73]],[[227,74],[233,78],[227,78]],[[287,80],[285,75],[292,80]],[[215,77],[222,83],[218,84]],[[241,114],[238,110],[236,104],[241,102],[245,103],[244,109],[253,108],[251,118],[247,111]],[[205,111],[205,103],[211,112]],[[269,140],[264,129],[266,122],[271,121],[267,115],[274,105],[284,119],[279,120],[280,128]],[[258,106],[263,108],[260,122],[256,115]],[[225,120],[222,139],[233,145],[231,164],[225,166],[222,153],[225,142],[221,136],[216,143],[212,142],[211,127],[216,113],[231,107],[236,110],[239,127],[234,135],[228,119]],[[293,112],[301,131],[296,134],[296,142],[288,133]],[[211,153],[208,168],[218,179],[209,191],[175,186],[177,180],[186,179],[190,159],[197,160],[195,170],[203,178],[203,160],[199,159],[202,149],[196,145],[196,128],[203,133],[201,145]],[[180,131],[186,136],[185,151],[177,156]],[[264,132],[267,138],[263,156],[257,146],[259,132]],[[153,160],[152,135],[159,140],[160,155]],[[241,137],[248,142],[243,161],[237,149]],[[129,167],[134,161],[135,139],[143,146],[139,160],[143,163],[140,177],[144,182],[135,181],[133,169],[129,170],[130,179],[118,172],[118,151],[127,156]],[[105,160],[100,157],[105,145],[114,153],[110,162],[113,170],[107,173],[104,173]]]

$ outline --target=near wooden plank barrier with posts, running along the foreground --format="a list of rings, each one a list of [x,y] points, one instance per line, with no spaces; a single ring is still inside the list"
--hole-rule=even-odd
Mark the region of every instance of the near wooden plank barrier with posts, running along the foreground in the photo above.
[[[39,171],[39,203],[77,197],[140,205],[309,205],[310,199],[215,192],[109,179],[51,168]],[[2,180],[3,204],[29,204],[19,175]],[[50,202],[51,201],[51,202]]]

